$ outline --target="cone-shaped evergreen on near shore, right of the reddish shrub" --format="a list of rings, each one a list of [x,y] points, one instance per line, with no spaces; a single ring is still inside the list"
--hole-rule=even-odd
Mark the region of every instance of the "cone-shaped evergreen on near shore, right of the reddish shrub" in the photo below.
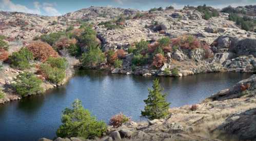
[[[166,95],[162,94],[161,91],[164,89],[159,84],[159,79],[155,79],[153,82],[153,89],[148,89],[148,98],[144,100],[146,106],[145,111],[142,111],[142,115],[149,119],[160,119],[166,117],[170,103],[166,102]]]

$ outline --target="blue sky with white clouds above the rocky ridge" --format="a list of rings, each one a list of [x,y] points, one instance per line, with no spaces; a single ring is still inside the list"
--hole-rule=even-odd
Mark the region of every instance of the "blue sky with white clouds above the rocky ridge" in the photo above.
[[[0,0],[0,10],[18,11],[41,15],[62,15],[90,6],[108,6],[148,10],[153,7],[183,8],[184,5],[209,5],[216,8],[226,6],[256,5],[256,0]]]

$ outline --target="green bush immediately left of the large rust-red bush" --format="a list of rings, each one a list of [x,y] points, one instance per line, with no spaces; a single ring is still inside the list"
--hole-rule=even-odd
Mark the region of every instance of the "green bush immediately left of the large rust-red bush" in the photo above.
[[[33,60],[33,53],[27,48],[22,48],[18,52],[13,52],[9,59],[11,67],[21,70],[29,69],[30,62]]]

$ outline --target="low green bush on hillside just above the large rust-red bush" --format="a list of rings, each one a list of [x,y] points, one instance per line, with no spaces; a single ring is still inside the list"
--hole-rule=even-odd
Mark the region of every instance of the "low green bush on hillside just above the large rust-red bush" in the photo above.
[[[43,35],[41,35],[40,38],[43,42],[46,42],[52,46],[62,36],[66,36],[66,33],[63,31],[59,31],[59,32],[54,32],[54,33],[50,33],[50,34],[43,34]]]

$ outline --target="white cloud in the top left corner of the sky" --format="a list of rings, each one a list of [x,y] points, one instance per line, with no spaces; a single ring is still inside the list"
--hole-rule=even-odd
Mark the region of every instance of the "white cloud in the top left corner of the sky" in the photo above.
[[[17,11],[17,12],[25,12],[25,13],[32,13],[32,14],[41,14],[41,11],[39,8],[29,9],[24,5],[14,4],[10,0],[2,0],[0,2],[1,2],[1,10],[3,11]],[[35,6],[35,3],[34,3],[34,6]]]

